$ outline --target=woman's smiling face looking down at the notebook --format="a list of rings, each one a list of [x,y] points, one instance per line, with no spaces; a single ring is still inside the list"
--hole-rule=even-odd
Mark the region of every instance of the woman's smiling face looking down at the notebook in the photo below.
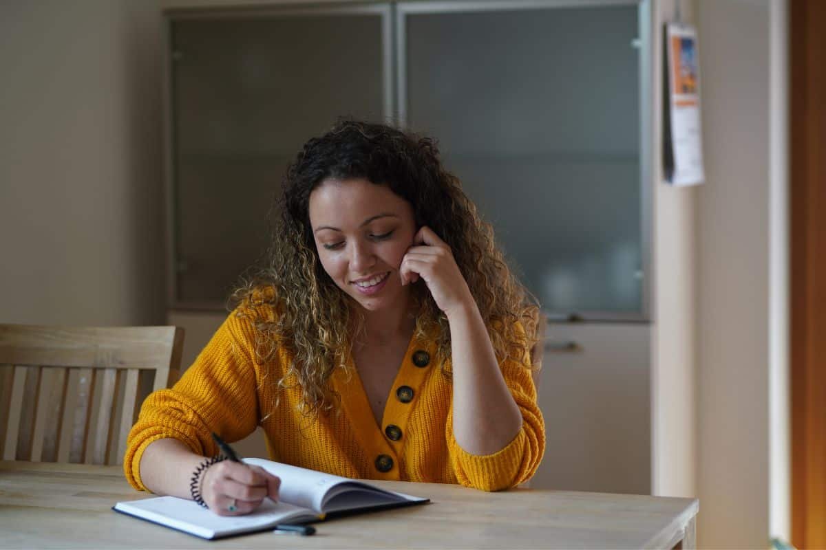
[[[339,289],[368,311],[406,307],[399,266],[416,232],[411,204],[363,178],[328,179],[309,209],[321,266]]]

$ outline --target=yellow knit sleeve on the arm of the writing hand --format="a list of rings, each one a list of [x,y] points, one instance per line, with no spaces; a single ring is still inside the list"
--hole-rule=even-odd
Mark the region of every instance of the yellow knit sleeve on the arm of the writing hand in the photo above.
[[[259,422],[254,370],[254,327],[230,314],[173,388],[146,398],[126,442],[123,469],[132,487],[146,490],[140,458],[154,441],[173,438],[193,453],[218,453],[211,432],[230,443],[251,434]]]

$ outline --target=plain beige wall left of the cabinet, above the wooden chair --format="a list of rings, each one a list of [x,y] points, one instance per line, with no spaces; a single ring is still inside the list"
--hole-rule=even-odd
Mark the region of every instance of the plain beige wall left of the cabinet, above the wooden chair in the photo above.
[[[0,322],[163,322],[159,11],[0,3]]]

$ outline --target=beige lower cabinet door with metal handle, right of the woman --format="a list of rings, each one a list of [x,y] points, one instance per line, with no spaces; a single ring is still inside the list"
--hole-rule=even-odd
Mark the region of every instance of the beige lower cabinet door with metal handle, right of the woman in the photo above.
[[[647,323],[550,323],[539,407],[547,447],[531,487],[651,493]]]

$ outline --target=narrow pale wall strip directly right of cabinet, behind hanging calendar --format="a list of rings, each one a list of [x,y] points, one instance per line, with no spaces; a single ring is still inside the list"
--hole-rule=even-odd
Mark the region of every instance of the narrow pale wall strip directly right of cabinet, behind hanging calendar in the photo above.
[[[697,496],[696,489],[696,289],[694,187],[663,182],[662,23],[674,2],[653,2],[653,300],[651,338],[652,487],[661,496]],[[683,21],[692,6],[683,2]],[[701,508],[702,510],[702,508]]]

